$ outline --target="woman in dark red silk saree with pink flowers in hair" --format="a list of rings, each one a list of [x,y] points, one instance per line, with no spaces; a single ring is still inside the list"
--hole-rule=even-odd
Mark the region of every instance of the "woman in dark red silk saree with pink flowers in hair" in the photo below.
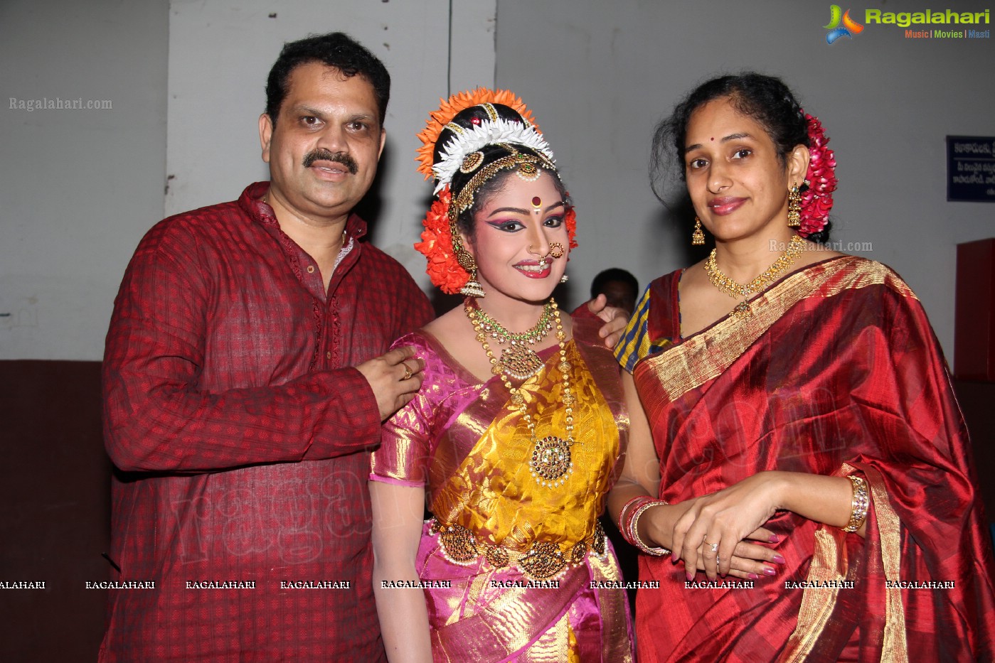
[[[632,422],[609,508],[661,586],[637,597],[641,662],[995,653],[970,445],[922,306],[811,242],[827,142],[756,74],[702,83],[658,129],[715,249],[651,283],[617,349]]]

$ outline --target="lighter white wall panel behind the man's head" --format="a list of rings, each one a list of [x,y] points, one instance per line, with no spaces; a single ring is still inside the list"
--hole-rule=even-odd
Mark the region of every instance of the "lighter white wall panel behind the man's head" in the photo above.
[[[378,182],[361,206],[373,242],[400,260],[426,289],[425,258],[415,251],[430,184],[415,171],[415,135],[439,97],[493,85],[496,0],[173,0],[169,22],[169,193],[166,213],[234,200],[269,179],[258,119],[266,78],[284,42],[310,33],[348,33],[391,75],[387,144]],[[276,17],[271,18],[271,14]],[[463,54],[473,53],[466,58]],[[451,82],[451,83],[450,83]],[[376,219],[370,218],[375,215]]]

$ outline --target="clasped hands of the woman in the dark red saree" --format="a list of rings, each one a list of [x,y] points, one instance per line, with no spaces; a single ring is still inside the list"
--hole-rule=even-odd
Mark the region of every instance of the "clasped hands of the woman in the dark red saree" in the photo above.
[[[784,559],[763,546],[743,540],[777,541],[762,526],[782,508],[779,474],[759,472],[716,493],[682,502],[688,508],[674,524],[675,563],[684,560],[687,569],[704,571],[708,580],[725,575],[741,578],[743,567],[751,564],[751,573],[771,575],[766,571],[769,567],[757,572],[755,563],[746,564],[743,560],[783,564]]]

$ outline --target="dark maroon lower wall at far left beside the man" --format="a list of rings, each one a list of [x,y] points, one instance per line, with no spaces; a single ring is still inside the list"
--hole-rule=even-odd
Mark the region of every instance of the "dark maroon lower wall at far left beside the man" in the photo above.
[[[110,462],[100,362],[0,361],[0,660],[94,661],[106,613]]]

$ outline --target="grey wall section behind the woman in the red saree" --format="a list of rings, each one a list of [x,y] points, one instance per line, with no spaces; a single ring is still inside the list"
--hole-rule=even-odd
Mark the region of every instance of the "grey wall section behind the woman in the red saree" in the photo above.
[[[896,268],[952,357],[955,245],[995,237],[995,205],[946,202],[944,136],[995,135],[995,41],[906,40],[866,24],[830,46],[829,5],[500,0],[497,85],[532,108],[577,203],[575,296],[605,267],[629,268],[642,286],[693,261],[693,217],[669,215],[649,187],[654,126],[698,82],[754,69],[784,78],[826,126],[839,163],[835,239],[871,243],[848,252]],[[859,23],[864,7],[851,13]]]

